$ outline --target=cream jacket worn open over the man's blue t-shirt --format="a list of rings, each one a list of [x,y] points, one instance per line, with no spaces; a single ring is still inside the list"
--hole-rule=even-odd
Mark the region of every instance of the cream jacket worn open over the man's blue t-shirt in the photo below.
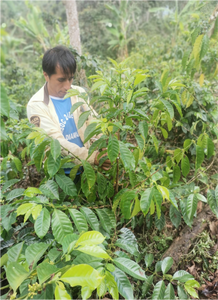
[[[72,86],[73,89],[78,90],[83,93],[85,90],[78,86]],[[84,102],[84,105],[80,106],[73,112],[73,117],[75,124],[77,126],[79,116],[82,112],[90,110],[88,105],[82,98],[78,96],[71,97],[72,105],[76,102]],[[57,139],[60,144],[66,148],[69,152],[73,153],[75,156],[80,159],[87,159],[88,157],[88,149],[90,147],[90,143],[87,142],[84,144],[84,147],[80,148],[74,143],[67,141],[60,128],[59,119],[55,111],[55,107],[53,102],[51,101],[47,84],[45,84],[28,102],[27,104],[27,117],[31,123],[33,123],[36,127],[41,127],[45,130],[45,132],[54,139]],[[88,120],[84,123],[84,125],[78,129],[79,136],[84,141],[84,132],[87,126],[89,125],[89,121],[93,118],[93,116],[89,116]],[[70,154],[66,151],[65,155]],[[88,159],[88,162],[94,164],[94,159],[97,151],[95,151]],[[78,161],[76,161],[78,163]]]

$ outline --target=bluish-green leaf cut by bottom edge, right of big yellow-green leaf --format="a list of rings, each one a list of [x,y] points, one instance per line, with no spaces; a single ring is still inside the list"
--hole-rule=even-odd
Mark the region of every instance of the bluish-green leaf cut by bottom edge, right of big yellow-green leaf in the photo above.
[[[126,300],[134,300],[133,288],[126,274],[118,268],[115,268],[115,271],[112,272],[114,279],[117,283],[119,293]]]

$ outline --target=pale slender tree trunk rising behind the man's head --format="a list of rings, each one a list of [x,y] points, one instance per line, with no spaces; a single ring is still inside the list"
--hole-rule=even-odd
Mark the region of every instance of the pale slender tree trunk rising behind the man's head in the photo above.
[[[70,36],[71,46],[77,50],[79,55],[82,54],[80,30],[79,30],[79,19],[77,13],[76,0],[65,0],[67,24]]]

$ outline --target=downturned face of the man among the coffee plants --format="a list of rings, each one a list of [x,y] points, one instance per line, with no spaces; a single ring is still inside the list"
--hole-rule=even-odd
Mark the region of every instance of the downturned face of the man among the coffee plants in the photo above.
[[[56,73],[50,77],[46,72],[43,72],[48,85],[48,92],[50,96],[64,98],[71,87],[73,74],[64,74],[59,66],[57,66],[55,70]]]

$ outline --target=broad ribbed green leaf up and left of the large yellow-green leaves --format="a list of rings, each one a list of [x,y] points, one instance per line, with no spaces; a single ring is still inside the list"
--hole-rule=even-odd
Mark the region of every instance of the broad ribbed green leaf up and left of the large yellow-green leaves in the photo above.
[[[52,215],[52,232],[56,241],[62,244],[65,235],[73,233],[70,219],[61,210],[55,209]]]

